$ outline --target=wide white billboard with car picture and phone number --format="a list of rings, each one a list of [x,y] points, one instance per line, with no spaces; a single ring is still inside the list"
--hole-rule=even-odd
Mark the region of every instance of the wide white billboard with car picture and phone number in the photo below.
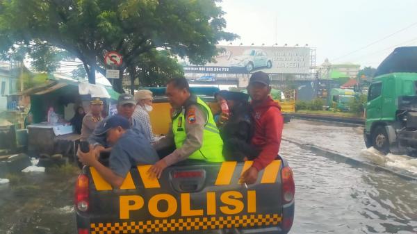
[[[309,74],[311,61],[308,47],[243,47],[218,46],[215,62],[204,66],[184,66],[186,73]]]

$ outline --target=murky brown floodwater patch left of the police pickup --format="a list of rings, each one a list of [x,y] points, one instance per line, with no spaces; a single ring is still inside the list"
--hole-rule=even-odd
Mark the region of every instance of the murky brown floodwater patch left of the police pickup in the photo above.
[[[30,172],[0,185],[0,234],[76,233],[74,172]]]

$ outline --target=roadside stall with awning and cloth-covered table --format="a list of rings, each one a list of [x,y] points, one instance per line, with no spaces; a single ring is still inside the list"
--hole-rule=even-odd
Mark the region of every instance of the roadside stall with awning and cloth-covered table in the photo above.
[[[70,124],[76,109],[82,107],[88,112],[91,97],[99,97],[104,101],[102,115],[106,116],[119,96],[111,87],[63,79],[48,81],[23,94],[31,97],[28,154],[42,157],[61,154],[74,159],[81,138]]]

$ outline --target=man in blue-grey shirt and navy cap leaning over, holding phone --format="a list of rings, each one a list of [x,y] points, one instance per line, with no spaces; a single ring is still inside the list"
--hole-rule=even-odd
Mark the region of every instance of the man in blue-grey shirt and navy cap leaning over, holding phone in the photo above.
[[[95,157],[92,145],[88,153],[78,152],[79,160],[94,167],[101,177],[113,187],[120,187],[131,167],[153,165],[159,160],[149,140],[137,128],[131,128],[129,120],[121,115],[113,115],[104,120],[104,128],[97,135],[106,135],[112,146],[109,167],[102,165]]]

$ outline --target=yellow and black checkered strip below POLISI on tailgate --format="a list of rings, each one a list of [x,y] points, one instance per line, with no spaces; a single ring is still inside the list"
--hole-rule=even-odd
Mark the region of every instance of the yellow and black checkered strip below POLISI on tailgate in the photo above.
[[[156,219],[140,222],[92,223],[90,224],[90,232],[91,234],[116,234],[201,231],[272,226],[279,224],[279,222],[281,222],[281,217],[277,214]]]

